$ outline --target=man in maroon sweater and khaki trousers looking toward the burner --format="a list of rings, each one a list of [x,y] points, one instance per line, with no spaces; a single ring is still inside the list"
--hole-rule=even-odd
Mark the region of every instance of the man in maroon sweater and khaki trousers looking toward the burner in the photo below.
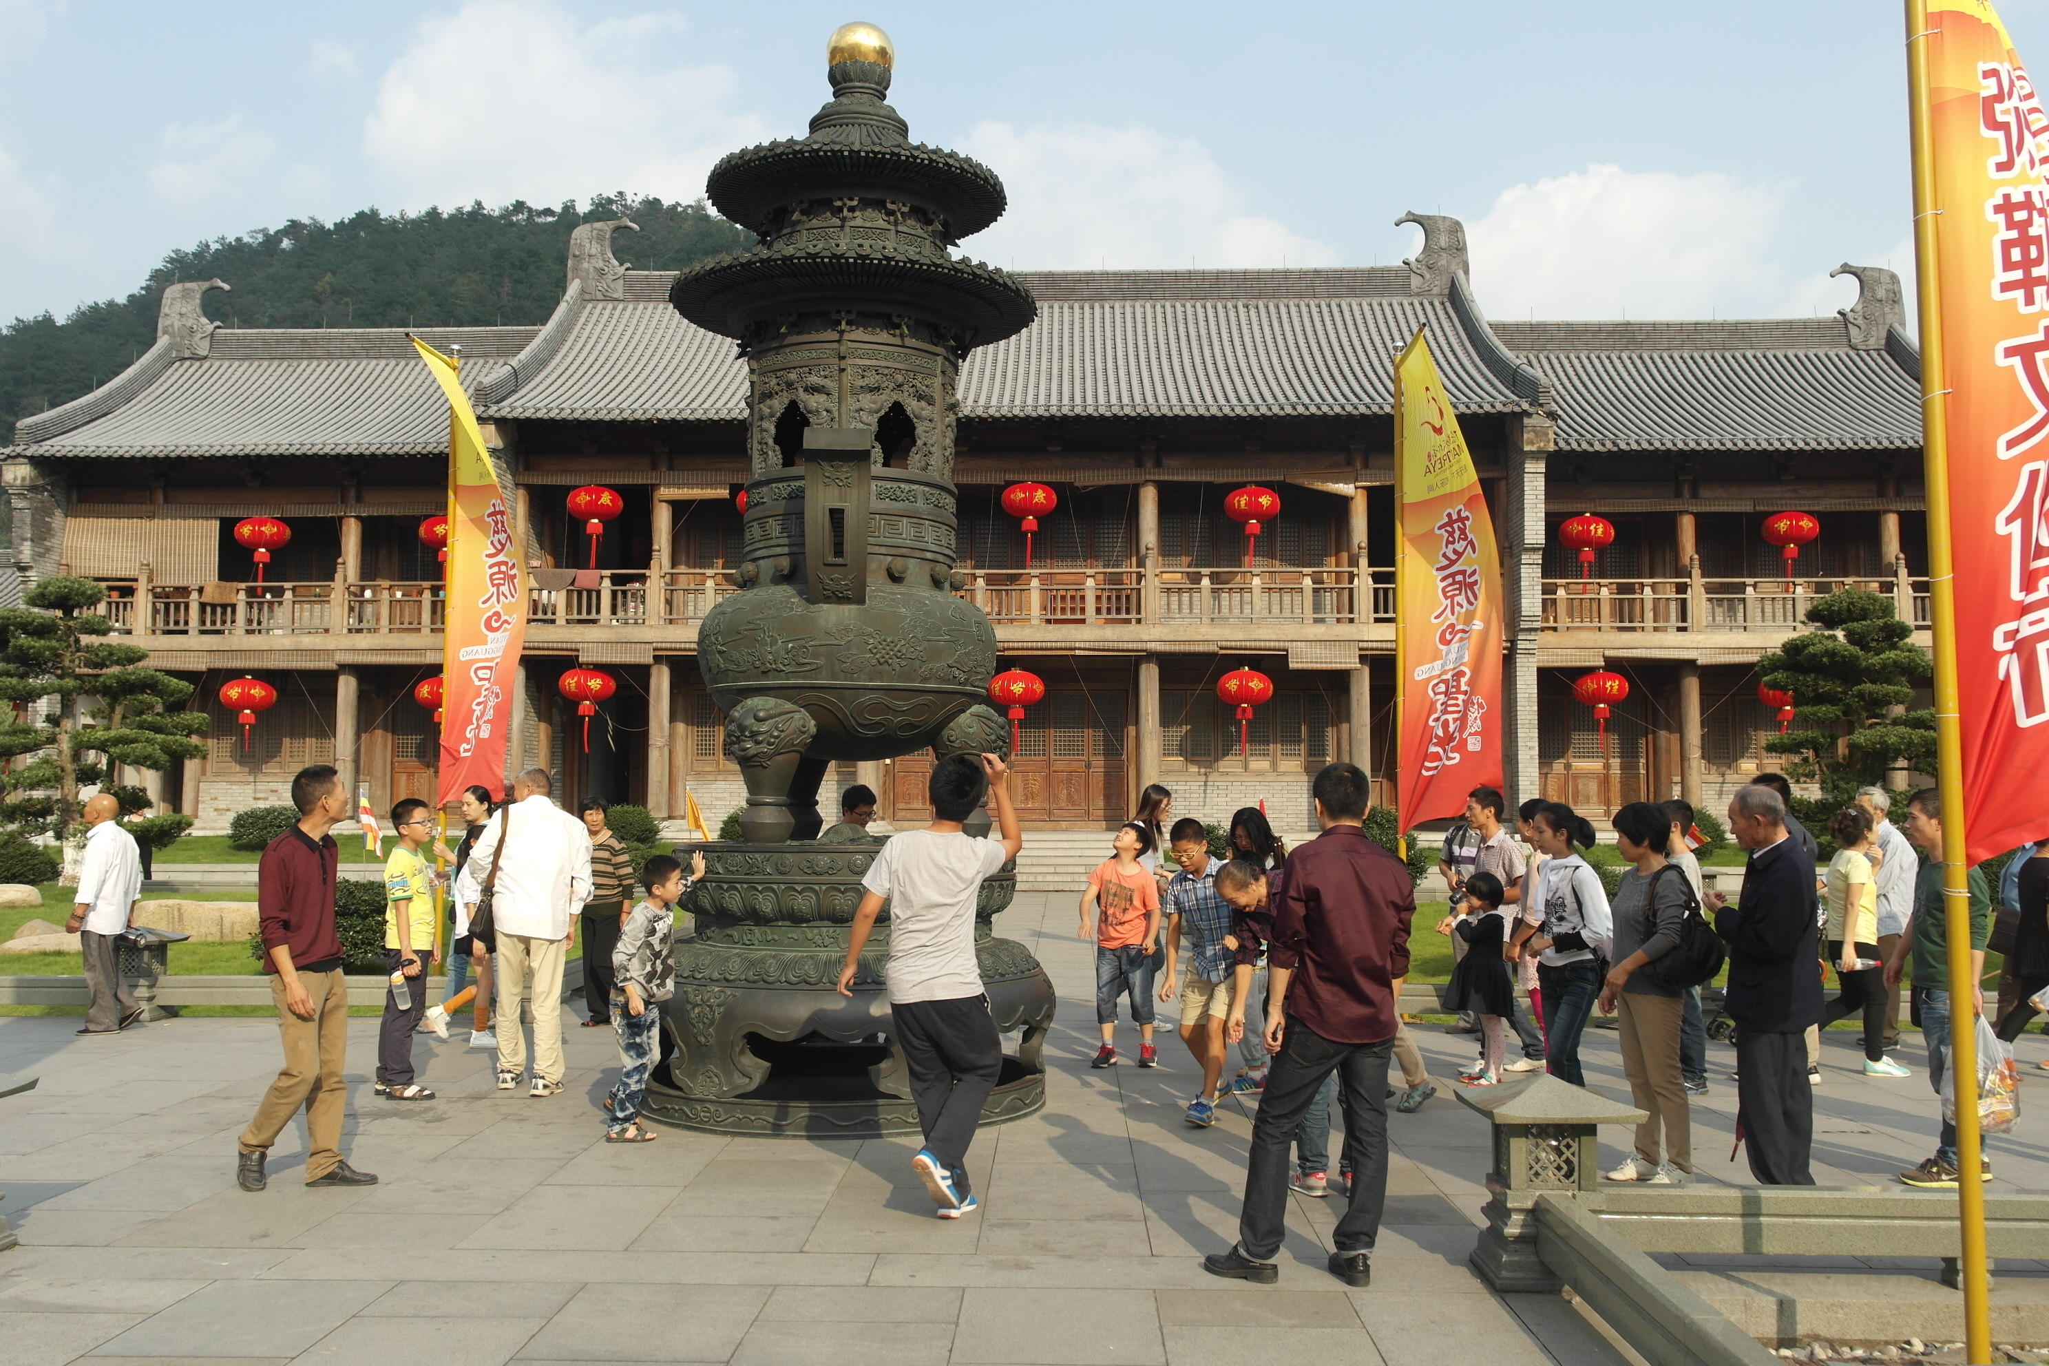
[[[273,840],[256,864],[256,932],[262,936],[277,1032],[285,1067],[256,1118],[242,1130],[236,1184],[262,1190],[270,1145],[305,1106],[305,1184],[375,1186],[377,1178],[342,1161],[342,1108],[348,1083],[348,981],[342,938],[334,932],[334,829],[348,817],[348,793],[328,764],[301,768],[291,780],[299,819]]]

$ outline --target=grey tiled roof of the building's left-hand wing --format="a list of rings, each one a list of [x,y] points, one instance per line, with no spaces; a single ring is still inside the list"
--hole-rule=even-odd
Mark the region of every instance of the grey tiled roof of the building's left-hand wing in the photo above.
[[[441,350],[459,344],[465,387],[475,389],[535,332],[424,328],[420,338]],[[25,422],[16,451],[80,459],[434,455],[449,446],[447,399],[402,328],[221,328],[207,358],[158,360],[154,373],[131,371],[125,385],[131,395],[119,405],[88,393]]]

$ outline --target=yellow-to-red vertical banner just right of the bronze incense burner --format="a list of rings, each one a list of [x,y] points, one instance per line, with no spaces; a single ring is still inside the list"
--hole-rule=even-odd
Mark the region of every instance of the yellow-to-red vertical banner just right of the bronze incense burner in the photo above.
[[[1402,829],[1502,784],[1502,561],[1422,330],[1395,356],[1395,670]]]

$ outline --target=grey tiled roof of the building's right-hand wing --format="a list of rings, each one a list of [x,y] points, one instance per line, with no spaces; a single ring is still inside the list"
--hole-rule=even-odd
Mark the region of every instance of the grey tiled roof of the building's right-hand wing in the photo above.
[[[1840,317],[1498,322],[1553,383],[1559,451],[1914,451],[1912,344],[1854,350]]]

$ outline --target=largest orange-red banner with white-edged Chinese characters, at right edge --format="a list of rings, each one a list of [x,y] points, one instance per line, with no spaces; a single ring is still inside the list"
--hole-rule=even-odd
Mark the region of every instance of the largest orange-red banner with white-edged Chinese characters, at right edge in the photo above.
[[[2049,117],[1992,4],[1932,0],[1920,41],[1977,862],[2049,834]]]

